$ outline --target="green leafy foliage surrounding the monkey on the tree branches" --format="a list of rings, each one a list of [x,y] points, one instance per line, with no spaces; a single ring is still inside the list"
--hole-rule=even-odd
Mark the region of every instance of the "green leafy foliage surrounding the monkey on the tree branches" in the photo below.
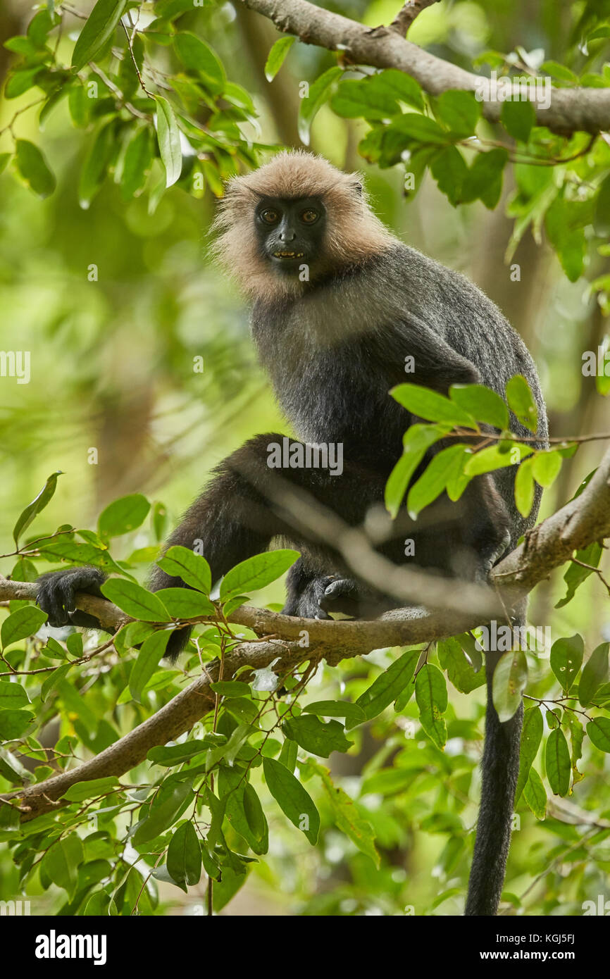
[[[455,6],[459,17],[466,5]],[[565,65],[518,49],[483,50],[474,67],[550,75],[559,87],[608,86],[607,18],[596,5],[579,11]],[[83,210],[103,210],[116,192],[120,204],[109,211],[113,224],[124,221],[129,230],[129,221],[137,223],[140,234],[150,219],[147,226],[167,228],[175,244],[171,235],[179,238],[183,225],[169,230],[170,216],[164,216],[172,213],[164,212],[172,195],[181,195],[182,205],[193,199],[206,205],[211,196],[221,196],[226,178],[274,149],[260,136],[261,100],[230,80],[240,77],[240,66],[219,53],[223,30],[213,21],[217,13],[218,5],[208,0],[201,11],[192,0],[158,0],[154,8],[99,0],[87,20],[74,18],[70,5],[41,6],[23,35],[5,43],[12,56],[4,91],[6,152],[0,153],[5,185],[17,177],[45,200],[45,208],[57,202],[58,215],[72,200]],[[502,13],[492,16],[501,19]],[[450,38],[442,43],[446,54],[462,58],[463,52],[451,50]],[[493,210],[508,178],[514,181],[509,257],[528,230],[537,241],[545,235],[566,277],[582,286],[583,274],[607,256],[610,149],[603,134],[553,134],[535,123],[525,102],[506,102],[493,127],[472,93],[431,98],[396,70],[355,71],[334,58],[306,62],[304,49],[295,38],[281,37],[263,61],[274,84],[295,62],[309,78],[298,120],[305,144],[314,142],[316,119],[326,124],[332,118],[333,125],[346,120],[357,127],[363,161],[399,172],[407,203],[428,173],[452,208],[480,202]],[[23,125],[33,115],[30,106],[41,130],[68,109],[75,130],[70,139],[84,146],[69,186],[64,173],[55,173],[47,137]],[[140,207],[140,201],[136,221],[130,216],[136,211],[128,208]],[[150,251],[142,249],[147,260]],[[141,289],[137,272],[135,277]],[[606,271],[593,273],[586,285],[606,313],[609,286]],[[169,306],[173,297],[163,299]],[[149,303],[158,305],[164,308]],[[98,315],[105,325],[116,319],[106,308]],[[61,315],[50,323],[51,339],[62,324]],[[167,363],[176,350],[182,352],[184,340],[179,331],[169,336],[164,322],[161,327],[159,334],[169,339],[160,361]],[[237,340],[232,357],[236,347]],[[234,387],[233,365],[225,370],[222,351],[214,362],[225,399]],[[82,370],[86,384],[88,367]],[[595,384],[601,394],[610,390],[603,372]],[[527,514],[535,483],[556,488],[577,444],[566,440],[548,451],[527,444],[517,422],[534,432],[536,412],[523,379],[513,379],[505,401],[481,386],[453,388],[442,397],[403,384],[394,396],[423,422],[405,434],[404,453],[387,488],[392,512],[426,449],[441,440],[451,444],[436,456],[440,461],[408,489],[413,515],[445,490],[458,498],[477,473],[522,459],[516,501]],[[55,468],[54,457],[40,483]],[[139,621],[121,629],[115,652],[95,635],[85,636],[83,644],[73,630],[53,634],[31,603],[10,603],[0,634],[3,790],[71,768],[157,713],[202,665],[252,637],[232,626],[231,612],[244,592],[270,586],[274,597],[273,583],[296,557],[276,551],[243,562],[216,595],[205,557],[170,548],[161,566],[193,590],[153,596],[139,583],[140,569],[159,556],[163,505],[151,505],[139,492],[125,493],[102,509],[96,531],[62,525],[54,533],[48,514],[58,475],[49,476],[15,521],[16,550],[6,558],[8,570],[17,581],[33,581],[48,567],[93,564],[114,574],[106,595]],[[66,482],[64,477],[59,486]],[[30,497],[19,498],[23,506]],[[12,512],[20,509],[13,501]],[[43,510],[47,530],[33,536],[30,525]],[[545,654],[515,656],[507,649],[493,690],[505,717],[522,690],[528,698],[517,789],[516,828],[523,843],[513,848],[504,895],[526,912],[531,899],[522,902],[512,893],[511,880],[543,875],[538,909],[581,913],[583,898],[603,891],[609,863],[607,792],[600,777],[610,750],[608,643],[589,641],[582,604],[587,585],[598,582],[601,545],[590,545],[575,559],[557,602],[562,618],[549,652],[550,670]],[[576,634],[568,628],[574,618],[580,623]],[[195,643],[184,662],[167,667],[162,657],[169,631],[184,621],[198,623]],[[217,712],[188,736],[153,749],[147,763],[128,776],[77,783],[66,795],[67,806],[22,825],[15,809],[0,810],[0,839],[11,857],[7,893],[25,889],[41,907],[64,914],[154,914],[178,903],[189,888],[189,900],[201,903],[205,872],[214,881],[216,910],[249,877],[267,895],[283,893],[305,914],[409,913],[413,906],[418,914],[459,910],[482,736],[478,639],[459,635],[436,649],[379,650],[366,661],[320,669],[315,689],[307,687],[311,664],[304,650],[300,668],[277,677],[276,689],[285,687],[284,695],[268,684],[262,689],[249,675],[214,684]],[[56,724],[59,736],[49,741]],[[346,765],[358,763],[359,778],[338,773],[339,756]],[[561,800],[572,795],[580,807],[576,817],[561,808]],[[414,837],[423,842],[414,843]],[[397,853],[403,857],[398,866]],[[413,879],[417,864],[427,868],[423,881],[421,874]],[[560,870],[567,866],[569,881]],[[526,892],[520,883],[515,887]]]

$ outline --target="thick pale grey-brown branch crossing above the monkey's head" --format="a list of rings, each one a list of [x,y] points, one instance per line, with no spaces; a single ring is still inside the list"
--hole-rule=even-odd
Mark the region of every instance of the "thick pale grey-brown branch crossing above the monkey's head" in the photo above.
[[[411,44],[396,29],[371,30],[307,0],[242,0],[242,3],[272,21],[278,30],[296,34],[305,44],[341,51],[357,65],[404,71],[430,95],[454,88],[474,91],[482,79]],[[553,88],[547,108],[536,105],[534,93],[532,101],[538,124],[553,132],[598,133],[610,129],[610,88]],[[502,105],[495,100],[484,101],[483,115],[496,122]]]

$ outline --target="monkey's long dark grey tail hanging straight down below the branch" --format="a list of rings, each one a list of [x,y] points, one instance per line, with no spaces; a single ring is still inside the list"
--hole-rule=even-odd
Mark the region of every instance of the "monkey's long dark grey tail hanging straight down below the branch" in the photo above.
[[[483,785],[465,914],[493,915],[497,912],[510,845],[523,703],[510,721],[500,723],[492,698],[493,671],[498,659],[498,653],[486,655],[488,707]]]

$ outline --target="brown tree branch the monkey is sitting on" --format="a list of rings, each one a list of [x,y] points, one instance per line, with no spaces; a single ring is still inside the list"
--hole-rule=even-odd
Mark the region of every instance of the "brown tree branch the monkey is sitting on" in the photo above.
[[[610,450],[606,452],[587,488],[538,527],[530,531],[519,547],[495,566],[491,582],[503,602],[510,606],[526,595],[536,583],[565,563],[574,550],[594,540],[610,536]],[[0,577],[0,601],[35,598],[36,585],[11,582]],[[117,628],[126,621],[111,602],[92,595],[76,596],[76,606],[95,615],[105,626]],[[305,660],[325,658],[330,665],[342,659],[362,656],[373,649],[393,645],[430,642],[481,625],[472,612],[461,615],[439,610],[395,609],[374,622],[334,622],[298,619],[292,616],[242,606],[231,613],[231,622],[247,626],[259,636],[279,636],[262,642],[244,642],[227,653],[223,676],[229,678],[243,666],[260,669],[279,659],[276,672],[288,672]],[[304,631],[308,646],[303,647]],[[210,689],[217,677],[218,664],[207,666],[200,676],[170,700],[148,721],[141,723],[96,758],[69,771],[54,775],[36,785],[2,797],[2,802],[19,807],[23,820],[53,811],[57,800],[75,782],[103,775],[122,775],[146,759],[157,745],[190,730],[207,714],[214,703]]]

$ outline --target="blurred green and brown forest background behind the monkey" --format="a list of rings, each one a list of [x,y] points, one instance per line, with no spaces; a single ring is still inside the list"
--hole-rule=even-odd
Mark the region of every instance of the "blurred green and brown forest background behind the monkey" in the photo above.
[[[85,10],[90,6],[81,5]],[[392,20],[400,4],[353,0],[325,6],[374,26]],[[509,51],[515,44],[526,50],[541,47],[547,58],[561,60],[579,6],[558,7],[552,0],[443,3],[418,19],[409,39],[464,66],[482,50]],[[31,13],[28,2],[4,0],[0,39],[23,33]],[[331,56],[297,45],[269,84],[262,68],[278,35],[268,22],[230,3],[191,16],[191,29],[209,40],[231,79],[252,93],[261,141],[300,146],[299,82],[313,80],[330,67]],[[9,62],[9,53],[0,51],[0,79]],[[0,105],[0,129],[28,101],[31,93]],[[12,172],[0,178],[0,346],[31,353],[29,384],[0,379],[0,551],[14,549],[11,532],[23,506],[58,469],[65,475],[36,521],[39,534],[69,522],[94,526],[104,506],[134,491],[163,500],[173,523],[211,467],[232,448],[257,432],[286,429],[254,357],[245,305],[211,263],[215,199],[210,190],[197,200],[174,188],[150,215],[145,198],[125,203],[117,185],[107,180],[91,207],[82,210],[75,174],[90,137],[72,127],[66,102],[49,115],[42,135],[35,111],[23,113],[15,131],[41,145],[58,186],[40,202]],[[607,429],[608,402],[596,394],[594,380],[581,372],[583,350],[595,350],[605,332],[587,281],[569,283],[544,242],[536,243],[529,234],[512,259],[521,267],[521,280],[510,280],[503,258],[512,226],[504,215],[512,190],[509,171],[502,201],[493,211],[480,203],[452,209],[429,178],[407,202],[398,171],[380,171],[358,157],[357,143],[364,131],[363,124],[338,118],[325,107],[313,123],[311,149],[338,166],[364,171],[375,210],[405,242],[464,272],[499,304],[538,364],[552,435]],[[0,152],[10,146],[11,134],[4,131]],[[587,279],[604,271],[601,262],[599,256],[591,256]],[[88,279],[93,265],[97,281]],[[203,373],[194,370],[197,357],[204,359]],[[98,452],[95,465],[89,462],[92,447]],[[553,489],[544,495],[542,515],[570,498],[599,455],[599,443],[592,443],[566,462]],[[116,556],[147,543],[146,533],[125,538],[125,550]],[[5,558],[0,570],[8,573],[12,565],[13,559]],[[532,620],[546,623],[562,593],[561,574],[540,585],[531,605]],[[280,600],[279,590],[267,597]],[[554,636],[578,630],[588,648],[599,643],[604,626],[610,628],[603,584],[591,576],[552,621]],[[381,654],[375,657],[378,654],[372,662],[388,662]],[[325,679],[326,685],[312,690],[314,699],[326,696],[327,687],[337,682]],[[351,682],[357,695],[362,676]],[[468,698],[456,695],[452,704],[458,718],[480,718],[483,696],[480,690]],[[383,742],[388,736],[388,728],[379,723],[365,740]],[[371,755],[368,749],[365,757]],[[431,761],[431,770],[432,765]],[[341,758],[335,771],[344,769],[349,781],[361,772],[362,760]],[[296,830],[284,826],[285,847],[282,841],[272,851],[274,869],[260,864],[229,913],[304,908],[310,913],[351,913],[361,903],[369,913],[400,913],[405,873],[410,878],[409,904],[429,901],[441,889],[429,867],[443,852],[445,839],[435,835],[434,827],[412,833],[410,821],[405,828],[402,816],[407,812],[409,820],[424,818],[431,796],[446,791],[443,779],[441,788],[434,787],[439,772],[434,774],[431,785],[418,783],[400,797],[394,810],[378,810],[376,828],[389,855],[382,872],[373,872],[372,863],[356,853],[348,874],[343,837],[330,833],[325,848],[313,852],[306,850],[302,837],[298,841]],[[600,773],[587,779],[586,795],[577,802],[588,800],[587,808],[594,808],[603,784]],[[470,822],[474,818],[473,808]],[[550,862],[552,847],[561,838],[561,832],[552,837],[552,825],[549,832],[549,826],[539,826],[532,814],[522,818],[506,885],[519,893],[531,879],[533,863]],[[567,839],[572,831],[569,820],[565,825]],[[463,876],[466,869],[465,862],[460,864],[459,873]],[[588,872],[582,867],[577,876]],[[602,887],[603,877],[596,881],[593,891]],[[540,897],[528,913],[540,912],[543,902]],[[451,913],[451,908],[449,904],[443,913]]]

